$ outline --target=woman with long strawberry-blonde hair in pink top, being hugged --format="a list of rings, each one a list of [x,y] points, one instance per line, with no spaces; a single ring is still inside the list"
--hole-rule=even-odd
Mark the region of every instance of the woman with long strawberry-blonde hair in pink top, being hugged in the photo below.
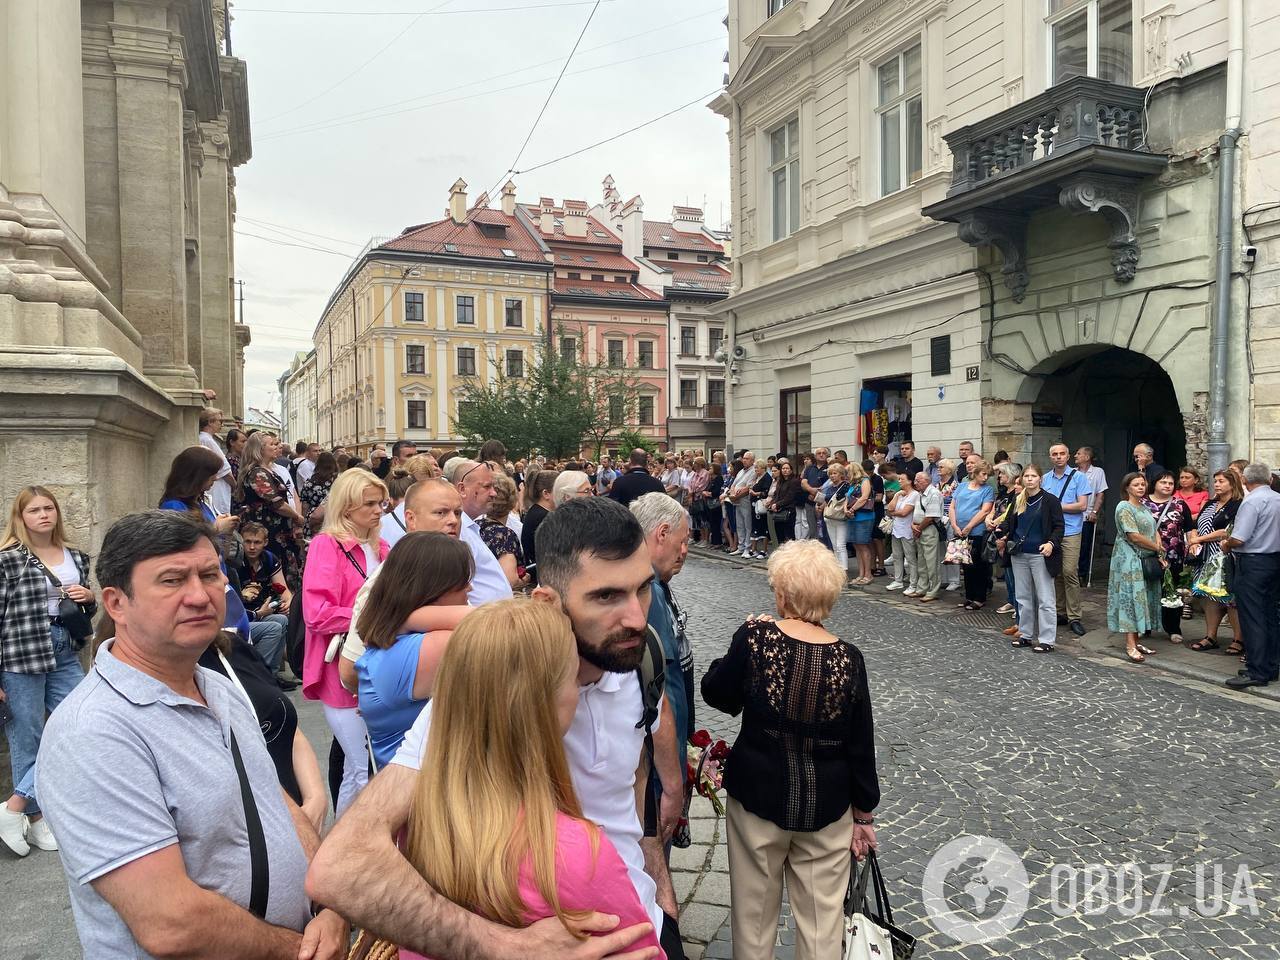
[[[595,910],[618,916],[618,928],[649,922],[617,850],[573,792],[563,737],[577,669],[558,607],[500,600],[453,632],[428,705],[404,855],[442,896],[511,927],[558,916],[579,933]],[[658,947],[658,937],[630,950],[643,947]]]

